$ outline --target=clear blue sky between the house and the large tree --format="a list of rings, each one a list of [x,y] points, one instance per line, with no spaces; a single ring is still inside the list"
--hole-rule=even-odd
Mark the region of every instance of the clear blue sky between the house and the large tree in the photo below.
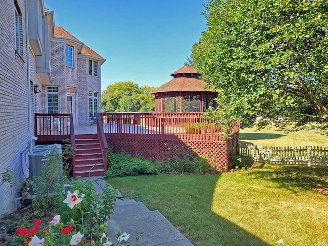
[[[205,0],[44,0],[55,25],[106,59],[101,89],[118,81],[161,86],[181,68],[206,19]]]

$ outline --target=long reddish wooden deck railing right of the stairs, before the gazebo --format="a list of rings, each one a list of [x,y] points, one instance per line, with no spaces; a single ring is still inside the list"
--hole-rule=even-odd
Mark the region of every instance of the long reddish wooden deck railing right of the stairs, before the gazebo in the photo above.
[[[100,113],[107,138],[222,141],[224,129],[202,113]],[[239,131],[236,124],[231,134]]]

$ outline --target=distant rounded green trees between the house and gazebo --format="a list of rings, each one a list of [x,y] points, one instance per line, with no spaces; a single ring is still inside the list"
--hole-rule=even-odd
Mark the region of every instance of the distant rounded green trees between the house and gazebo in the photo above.
[[[142,86],[131,81],[109,85],[101,93],[102,112],[146,112],[154,111],[155,99],[150,93],[156,87]]]

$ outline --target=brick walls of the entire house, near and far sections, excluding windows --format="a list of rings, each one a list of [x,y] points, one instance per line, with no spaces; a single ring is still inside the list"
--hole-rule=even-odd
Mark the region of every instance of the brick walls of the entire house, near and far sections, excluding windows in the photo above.
[[[34,113],[47,113],[47,87],[59,87],[59,113],[67,113],[67,88],[74,88],[76,125],[89,122],[89,91],[98,93],[100,112],[100,64],[105,59],[98,55],[101,61],[98,65],[99,76],[89,76],[88,55],[79,58],[84,44],[77,39],[66,38],[64,42],[54,36],[52,11],[41,11],[43,18],[37,18],[33,13],[37,12],[36,5],[43,9],[43,4],[43,0],[29,1],[28,6],[25,6],[25,0],[0,1],[0,216],[14,211],[14,200],[23,181],[29,176],[29,153],[35,145],[31,140],[34,135]],[[30,35],[29,40],[26,34],[26,8],[32,10],[28,11],[28,32],[34,37]],[[20,48],[17,51],[15,9],[20,26]],[[41,32],[35,31],[36,20],[39,19],[42,19],[44,29],[42,44],[36,35]],[[66,44],[74,47],[73,68],[66,66]],[[40,93],[34,93],[36,84]],[[14,187],[2,181],[2,174],[7,168],[14,174]]]

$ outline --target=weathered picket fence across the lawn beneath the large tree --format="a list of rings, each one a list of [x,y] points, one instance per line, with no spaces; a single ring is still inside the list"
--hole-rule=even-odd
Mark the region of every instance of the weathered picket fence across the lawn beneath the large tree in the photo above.
[[[262,147],[239,145],[239,155],[254,161],[328,166],[328,147]]]

